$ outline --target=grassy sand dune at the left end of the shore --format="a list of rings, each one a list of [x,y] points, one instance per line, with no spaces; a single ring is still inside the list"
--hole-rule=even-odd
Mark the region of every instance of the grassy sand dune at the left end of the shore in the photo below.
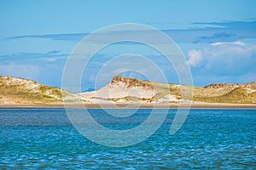
[[[69,94],[60,88],[44,86],[23,78],[0,77],[0,104],[61,103],[62,95]]]

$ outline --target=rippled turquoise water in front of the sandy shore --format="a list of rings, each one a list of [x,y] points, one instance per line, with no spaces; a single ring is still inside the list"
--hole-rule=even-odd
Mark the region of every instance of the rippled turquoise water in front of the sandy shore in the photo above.
[[[169,112],[142,143],[110,148],[85,139],[65,110],[0,110],[0,169],[256,168],[256,110],[191,110],[174,135],[175,110]],[[122,119],[90,113],[102,125],[122,129],[143,122],[150,110]]]

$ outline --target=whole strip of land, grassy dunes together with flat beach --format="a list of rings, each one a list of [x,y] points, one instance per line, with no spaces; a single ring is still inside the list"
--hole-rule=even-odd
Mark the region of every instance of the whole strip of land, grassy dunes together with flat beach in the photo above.
[[[177,108],[185,85],[113,77],[93,92],[72,94],[61,88],[15,77],[0,77],[0,108]],[[256,82],[189,87],[192,108],[255,108]]]

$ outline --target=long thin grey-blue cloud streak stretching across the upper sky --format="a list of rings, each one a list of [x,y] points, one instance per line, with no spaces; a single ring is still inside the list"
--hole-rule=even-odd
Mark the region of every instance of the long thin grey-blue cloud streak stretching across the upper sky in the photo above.
[[[256,38],[256,21],[224,21],[224,22],[195,22],[199,28],[192,29],[166,29],[162,30],[176,42],[234,42],[244,38]],[[201,27],[201,25],[205,27]],[[111,36],[119,36],[119,33],[129,33],[129,31],[108,32]],[[130,31],[131,33],[131,31]],[[137,31],[141,35],[143,31]],[[9,37],[9,40],[20,38],[47,38],[51,40],[79,41],[90,33],[71,34],[46,34],[46,35],[26,35]]]

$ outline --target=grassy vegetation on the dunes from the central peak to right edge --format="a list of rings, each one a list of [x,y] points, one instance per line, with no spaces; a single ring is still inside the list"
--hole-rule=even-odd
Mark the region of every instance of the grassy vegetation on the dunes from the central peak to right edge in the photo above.
[[[164,99],[167,94],[175,95],[177,99],[191,99],[187,89],[193,91],[194,101],[209,102],[209,103],[256,103],[256,82],[251,82],[243,85],[238,84],[211,84],[205,88],[189,87],[186,85],[176,85],[173,83],[165,84],[158,82],[148,82],[137,80],[136,78],[113,77],[112,82],[125,82],[126,88],[141,87],[145,90],[154,90],[156,94],[150,99],[133,99],[130,96],[124,98],[126,100],[148,100],[158,101]],[[184,90],[183,96],[181,90]],[[112,99],[118,101],[119,99]]]

